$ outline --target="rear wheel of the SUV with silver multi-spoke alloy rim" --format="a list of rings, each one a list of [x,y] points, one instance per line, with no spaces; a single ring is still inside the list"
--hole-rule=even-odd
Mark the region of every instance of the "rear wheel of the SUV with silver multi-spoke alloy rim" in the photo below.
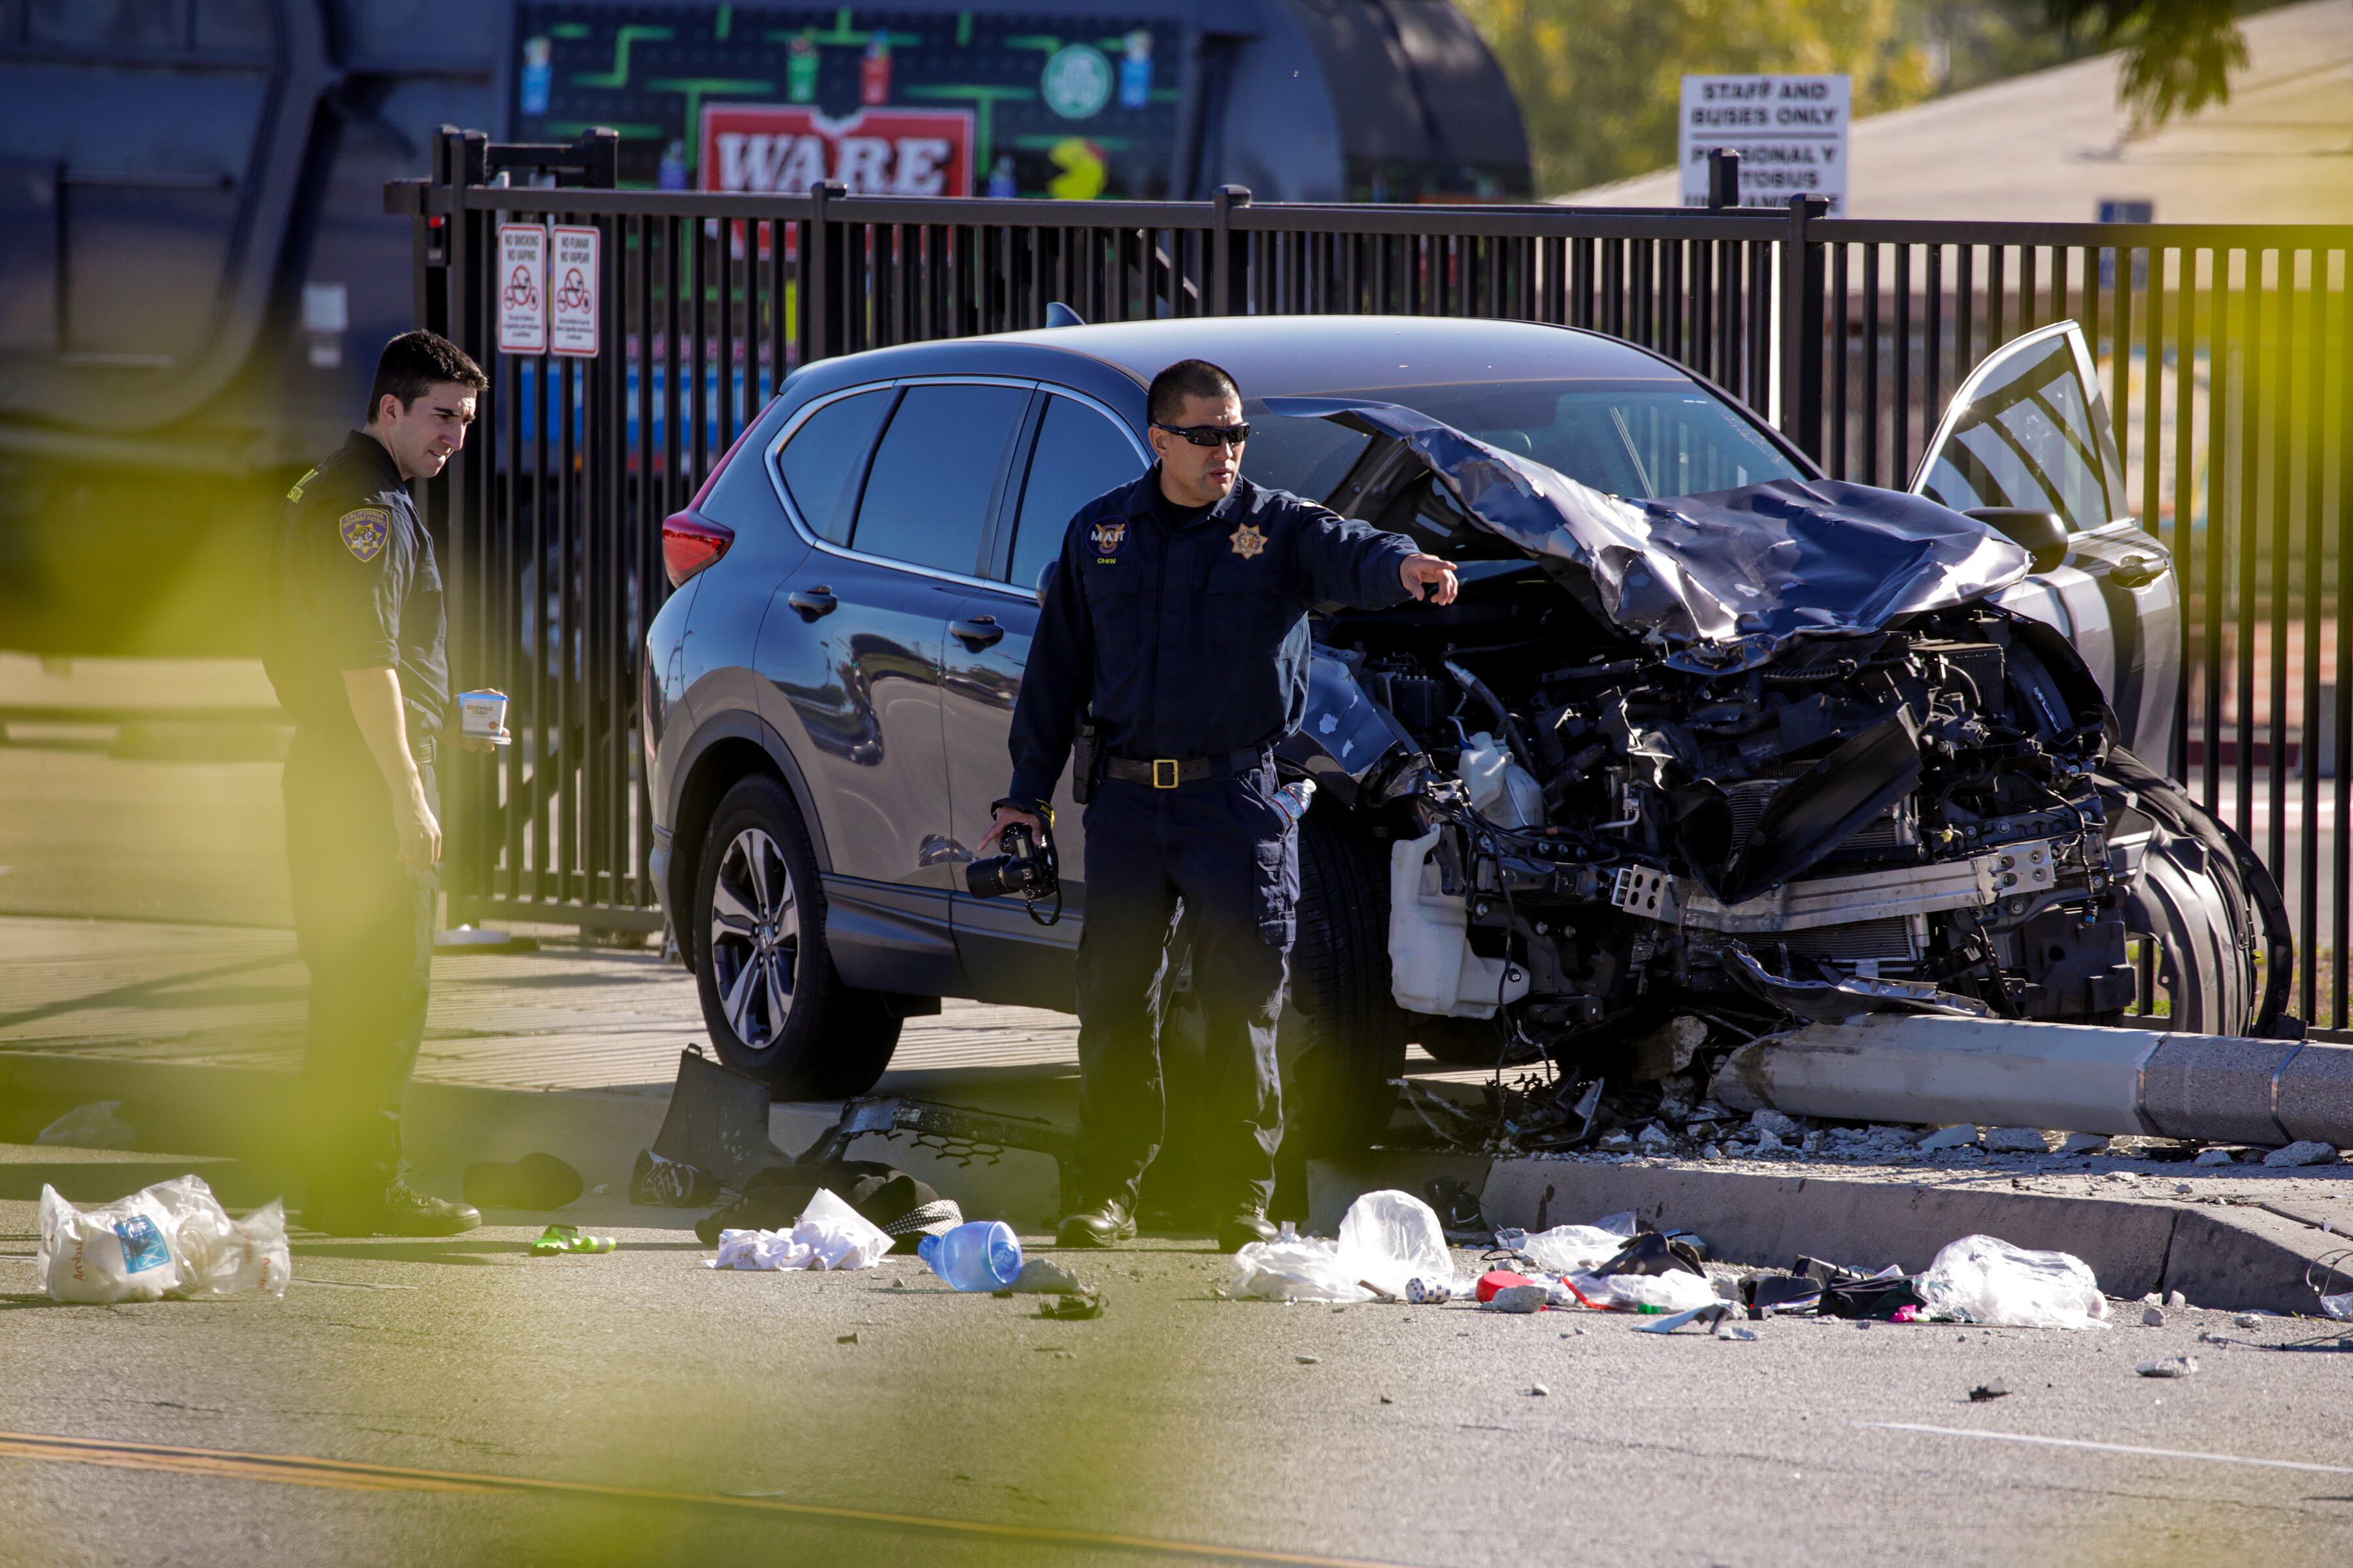
[[[694,867],[694,987],[720,1060],[779,1100],[873,1088],[899,1046],[880,992],[842,983],[800,809],[776,778],[720,799]]]

